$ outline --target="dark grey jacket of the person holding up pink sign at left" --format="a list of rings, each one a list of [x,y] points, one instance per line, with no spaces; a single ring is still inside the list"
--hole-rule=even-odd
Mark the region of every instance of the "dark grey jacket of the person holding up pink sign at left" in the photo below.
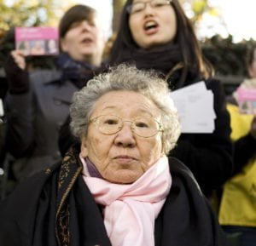
[[[78,88],[60,77],[52,70],[32,72],[28,91],[6,95],[6,145],[19,159],[20,179],[61,160],[58,132]]]

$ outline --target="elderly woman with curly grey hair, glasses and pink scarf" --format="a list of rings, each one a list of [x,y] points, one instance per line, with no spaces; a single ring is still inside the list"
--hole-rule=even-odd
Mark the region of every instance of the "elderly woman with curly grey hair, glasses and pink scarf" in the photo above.
[[[80,139],[0,207],[0,244],[227,245],[189,169],[166,157],[180,134],[167,83],[118,66],[76,92]]]

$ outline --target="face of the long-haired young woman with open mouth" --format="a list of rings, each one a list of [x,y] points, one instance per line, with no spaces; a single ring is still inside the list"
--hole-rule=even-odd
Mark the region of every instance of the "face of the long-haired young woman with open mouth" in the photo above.
[[[131,35],[137,45],[143,49],[172,42],[177,32],[177,19],[172,5],[152,7],[150,1],[134,0],[148,3],[142,11],[130,14]]]

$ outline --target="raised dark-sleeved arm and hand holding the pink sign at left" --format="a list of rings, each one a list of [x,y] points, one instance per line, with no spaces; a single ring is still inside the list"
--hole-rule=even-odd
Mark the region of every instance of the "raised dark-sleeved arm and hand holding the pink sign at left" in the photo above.
[[[6,113],[6,147],[14,157],[24,157],[32,149],[33,102],[25,56],[13,51],[5,63],[9,91],[4,106]]]

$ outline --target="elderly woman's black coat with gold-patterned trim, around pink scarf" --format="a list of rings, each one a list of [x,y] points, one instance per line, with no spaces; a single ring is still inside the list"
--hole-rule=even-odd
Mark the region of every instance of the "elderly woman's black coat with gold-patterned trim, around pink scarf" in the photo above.
[[[172,188],[155,221],[155,246],[227,246],[193,174],[170,157]],[[25,180],[0,204],[0,245],[110,246],[99,207],[84,183],[79,147]],[[125,221],[124,221],[125,223]]]

